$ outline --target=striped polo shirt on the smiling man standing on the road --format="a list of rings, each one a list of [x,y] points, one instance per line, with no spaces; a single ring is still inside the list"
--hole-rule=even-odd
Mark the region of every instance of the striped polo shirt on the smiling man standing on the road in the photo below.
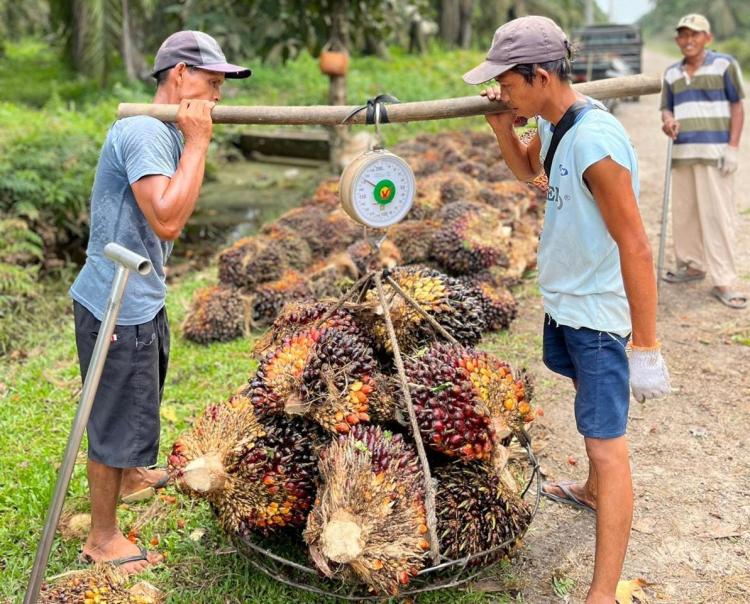
[[[670,66],[664,72],[661,110],[680,122],[672,165],[717,165],[729,142],[729,105],[744,96],[742,72],[729,55],[706,51],[692,78],[684,60]]]

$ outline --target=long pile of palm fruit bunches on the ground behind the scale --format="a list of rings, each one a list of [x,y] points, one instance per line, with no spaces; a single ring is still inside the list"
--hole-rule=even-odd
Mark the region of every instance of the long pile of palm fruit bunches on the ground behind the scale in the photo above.
[[[425,135],[394,149],[417,178],[406,219],[377,253],[339,207],[338,182],[218,256],[219,283],[198,291],[183,334],[228,341],[270,325],[284,304],[337,297],[367,270],[426,266],[474,290],[483,329],[505,329],[516,302],[508,290],[535,262],[539,187],[515,180],[492,135]]]

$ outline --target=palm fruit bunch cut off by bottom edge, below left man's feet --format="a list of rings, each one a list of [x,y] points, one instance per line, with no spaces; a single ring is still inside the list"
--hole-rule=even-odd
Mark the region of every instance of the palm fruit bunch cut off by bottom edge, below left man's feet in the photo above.
[[[157,599],[131,593],[125,575],[111,564],[68,573],[53,584],[43,584],[39,604],[156,604]]]

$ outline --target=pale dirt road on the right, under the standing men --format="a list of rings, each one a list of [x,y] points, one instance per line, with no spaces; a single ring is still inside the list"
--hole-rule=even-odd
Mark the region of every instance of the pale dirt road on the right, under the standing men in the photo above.
[[[646,73],[661,73],[671,62],[648,52],[644,59]],[[658,97],[621,104],[615,114],[638,152],[641,207],[656,258],[667,147]],[[746,293],[749,190],[750,135],[745,128],[736,193],[742,212],[737,260]],[[671,260],[668,248],[667,266]],[[709,296],[709,288],[705,282],[662,287],[658,329],[674,393],[645,405],[631,402],[636,501],[623,578],[655,583],[650,602],[750,602],[750,347],[732,340],[742,333],[750,337],[750,309],[724,307]],[[524,336],[531,350],[539,350],[542,315],[536,296],[523,300],[513,331]],[[538,359],[530,364],[539,376],[546,412],[539,431],[540,440],[548,443],[542,468],[551,478],[584,478],[586,457],[573,419],[573,389]],[[583,601],[593,569],[594,527],[593,515],[542,504],[524,557],[515,565],[525,601]]]

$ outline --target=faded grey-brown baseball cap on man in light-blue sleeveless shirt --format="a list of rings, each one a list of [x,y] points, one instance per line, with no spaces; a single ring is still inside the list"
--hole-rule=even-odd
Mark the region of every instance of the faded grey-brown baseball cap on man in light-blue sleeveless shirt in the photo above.
[[[529,16],[508,21],[495,31],[487,60],[464,74],[467,84],[481,84],[516,65],[546,63],[569,56],[565,32],[552,19]]]

